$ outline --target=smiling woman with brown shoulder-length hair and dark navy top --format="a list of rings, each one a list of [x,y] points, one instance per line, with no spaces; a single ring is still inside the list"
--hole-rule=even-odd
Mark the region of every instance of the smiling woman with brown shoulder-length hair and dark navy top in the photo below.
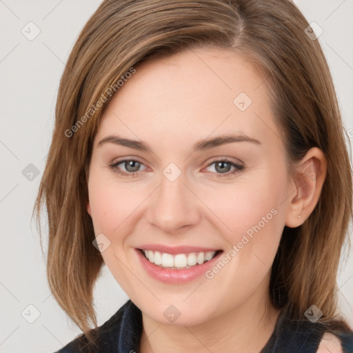
[[[352,352],[352,177],[291,1],[103,1],[61,78],[36,203],[60,352]],[[97,327],[103,263],[130,300]],[[90,330],[93,323],[94,330]]]

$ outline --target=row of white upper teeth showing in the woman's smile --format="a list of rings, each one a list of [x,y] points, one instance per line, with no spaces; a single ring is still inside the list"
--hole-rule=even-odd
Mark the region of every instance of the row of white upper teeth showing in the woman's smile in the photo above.
[[[145,257],[151,263],[163,268],[181,269],[190,268],[194,265],[202,265],[206,261],[213,259],[215,251],[209,252],[191,252],[190,254],[171,255],[153,250],[142,250]]]

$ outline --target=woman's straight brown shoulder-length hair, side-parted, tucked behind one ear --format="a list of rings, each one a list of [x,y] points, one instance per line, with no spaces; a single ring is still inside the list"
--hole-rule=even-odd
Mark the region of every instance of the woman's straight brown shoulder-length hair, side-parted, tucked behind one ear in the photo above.
[[[205,46],[232,50],[263,74],[290,170],[314,146],[325,153],[319,203],[303,225],[284,228],[270,296],[292,319],[303,319],[314,303],[323,312],[320,321],[336,321],[336,272],[352,217],[352,174],[332,77],[319,41],[305,34],[307,26],[289,0],[105,0],[90,17],[61,77],[34,206],[38,222],[43,204],[48,211],[50,289],[84,333],[90,323],[97,327],[92,292],[103,265],[86,205],[92,140],[110,101],[105,94],[142,61]]]

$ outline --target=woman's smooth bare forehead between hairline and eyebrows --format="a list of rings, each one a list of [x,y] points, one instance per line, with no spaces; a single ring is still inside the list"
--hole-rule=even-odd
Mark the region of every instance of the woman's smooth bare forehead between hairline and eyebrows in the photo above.
[[[185,145],[230,131],[276,134],[263,77],[234,52],[186,50],[135,69],[105,110],[97,139],[116,132]]]

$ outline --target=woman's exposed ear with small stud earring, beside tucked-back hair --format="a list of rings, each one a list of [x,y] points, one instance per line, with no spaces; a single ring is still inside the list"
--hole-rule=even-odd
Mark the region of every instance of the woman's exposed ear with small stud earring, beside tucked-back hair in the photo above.
[[[295,166],[296,195],[291,199],[285,225],[296,228],[303,224],[314,210],[327,172],[327,159],[319,148],[311,148]]]

